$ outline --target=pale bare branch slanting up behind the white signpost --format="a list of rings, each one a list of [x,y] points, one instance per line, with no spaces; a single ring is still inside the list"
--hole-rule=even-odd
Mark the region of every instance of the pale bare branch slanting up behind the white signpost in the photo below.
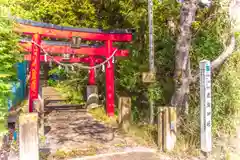
[[[211,62],[211,69],[214,71],[215,69],[219,68],[227,59],[230,57],[235,49],[236,46],[236,39],[234,36],[231,37],[230,44],[227,48],[215,59]],[[195,76],[192,77],[191,82],[195,83],[200,76],[199,71]]]

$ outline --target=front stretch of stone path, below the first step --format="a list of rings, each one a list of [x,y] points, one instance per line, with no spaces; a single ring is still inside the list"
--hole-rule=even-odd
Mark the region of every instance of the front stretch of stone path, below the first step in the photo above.
[[[129,137],[121,136],[94,120],[83,109],[57,110],[46,116],[46,144],[52,151],[70,151],[94,146],[108,149],[114,146],[137,145]],[[107,147],[107,148],[106,148]]]

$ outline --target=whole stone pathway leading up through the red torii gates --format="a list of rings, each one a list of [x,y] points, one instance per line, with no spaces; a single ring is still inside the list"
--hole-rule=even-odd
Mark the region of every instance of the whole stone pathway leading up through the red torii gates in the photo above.
[[[45,137],[41,150],[49,154],[48,159],[117,153],[124,152],[127,148],[139,147],[138,138],[123,135],[117,128],[104,125],[95,120],[85,109],[55,104],[58,99],[62,100],[58,96],[55,89],[43,88],[43,98],[47,97],[49,102],[48,107],[45,107]],[[52,99],[54,102],[51,101]],[[129,153],[125,157],[132,154],[134,153]],[[144,157],[143,155],[145,154],[140,152],[138,157]],[[145,157],[150,158],[146,160],[156,160],[158,157],[155,153],[151,155],[154,158],[146,153]]]

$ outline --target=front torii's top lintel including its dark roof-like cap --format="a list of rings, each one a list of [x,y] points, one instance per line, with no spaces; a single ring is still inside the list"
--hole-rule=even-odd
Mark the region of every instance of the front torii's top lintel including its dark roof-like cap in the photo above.
[[[32,20],[16,19],[16,32],[24,34],[40,34],[45,37],[66,38],[79,36],[86,40],[111,40],[118,42],[132,41],[133,29],[102,30],[92,28],[75,28],[36,22]]]

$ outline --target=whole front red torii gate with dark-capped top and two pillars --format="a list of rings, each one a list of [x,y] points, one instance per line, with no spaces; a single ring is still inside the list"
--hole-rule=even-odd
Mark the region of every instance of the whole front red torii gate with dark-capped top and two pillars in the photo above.
[[[30,64],[30,96],[29,96],[29,112],[33,112],[33,100],[38,98],[39,89],[39,72],[40,72],[40,60],[41,60],[41,49],[40,45],[44,48],[44,43],[42,44],[42,37],[50,38],[60,38],[60,39],[72,39],[73,37],[80,37],[84,40],[92,41],[104,41],[104,47],[98,48],[101,52],[101,56],[105,58],[110,58],[106,68],[106,110],[109,116],[114,115],[114,66],[112,62],[112,54],[114,52],[112,43],[117,42],[130,42],[132,40],[132,32],[130,30],[114,30],[114,31],[103,31],[100,29],[86,29],[86,28],[73,28],[73,27],[62,27],[53,24],[35,22],[30,20],[17,19],[17,26],[14,28],[15,32],[23,33],[32,36],[31,49],[29,43],[25,45],[25,49],[28,52],[31,51],[31,64]],[[23,45],[23,46],[24,46]],[[28,47],[26,47],[28,46]],[[84,47],[83,47],[84,48]],[[46,51],[52,51],[53,53],[72,53],[72,54],[85,54],[90,56],[90,66],[94,64],[94,59],[92,56],[97,55],[96,52],[92,53],[90,50],[86,49],[81,52],[81,49],[71,49],[68,46],[64,47],[48,47],[47,44],[44,48]],[[54,51],[53,51],[54,50]],[[120,51],[117,55],[126,56],[128,52]],[[124,55],[125,54],[125,55]],[[55,57],[56,58],[56,57]],[[83,59],[75,59],[76,61],[82,61]],[[74,61],[75,61],[74,60]],[[96,62],[96,61],[95,61]],[[93,74],[90,72],[90,75]],[[95,82],[94,82],[95,83]]]

